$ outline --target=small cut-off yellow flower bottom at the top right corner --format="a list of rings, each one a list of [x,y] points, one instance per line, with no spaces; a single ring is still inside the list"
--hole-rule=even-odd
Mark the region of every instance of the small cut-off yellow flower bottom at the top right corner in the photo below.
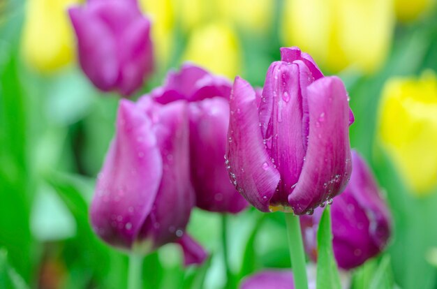
[[[394,0],[397,18],[402,22],[416,20],[436,3],[435,0]]]

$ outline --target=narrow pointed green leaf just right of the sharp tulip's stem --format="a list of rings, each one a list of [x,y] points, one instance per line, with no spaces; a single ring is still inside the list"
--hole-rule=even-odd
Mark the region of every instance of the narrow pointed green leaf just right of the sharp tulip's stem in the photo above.
[[[331,214],[329,206],[320,218],[317,232],[317,288],[340,289],[340,277],[332,251]]]

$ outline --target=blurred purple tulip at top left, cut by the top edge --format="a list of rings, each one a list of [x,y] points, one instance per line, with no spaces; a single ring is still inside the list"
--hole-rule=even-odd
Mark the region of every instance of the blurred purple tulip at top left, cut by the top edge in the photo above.
[[[80,66],[102,91],[131,95],[153,71],[150,21],[135,0],[88,0],[68,10]]]

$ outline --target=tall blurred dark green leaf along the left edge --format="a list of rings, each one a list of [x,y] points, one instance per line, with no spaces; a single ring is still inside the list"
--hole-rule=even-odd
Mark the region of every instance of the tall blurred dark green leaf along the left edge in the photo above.
[[[15,31],[15,29],[12,29]],[[29,229],[32,173],[27,145],[27,98],[22,93],[17,71],[17,55],[10,50],[0,64],[0,246],[9,254],[9,262],[30,281],[35,254]]]

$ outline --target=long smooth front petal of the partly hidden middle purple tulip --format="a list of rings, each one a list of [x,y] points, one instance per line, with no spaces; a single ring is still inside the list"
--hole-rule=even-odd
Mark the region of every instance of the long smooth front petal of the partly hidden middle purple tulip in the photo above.
[[[190,103],[191,175],[196,205],[211,212],[238,213],[248,203],[230,184],[225,168],[229,104],[221,97]]]

